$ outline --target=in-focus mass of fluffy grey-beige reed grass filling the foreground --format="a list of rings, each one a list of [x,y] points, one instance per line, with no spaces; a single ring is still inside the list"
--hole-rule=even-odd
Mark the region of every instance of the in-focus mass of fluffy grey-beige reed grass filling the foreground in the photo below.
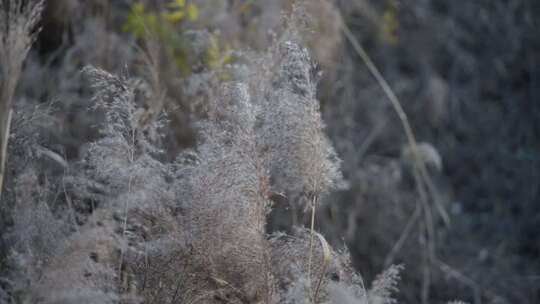
[[[0,273],[0,299],[392,303],[400,267],[368,290],[346,250],[314,229],[316,205],[343,179],[324,134],[318,73],[308,51],[288,38],[246,60],[234,81],[209,82],[198,101],[197,143],[172,161],[164,138],[154,136],[165,133],[166,113],[149,115],[144,105],[152,101],[139,100],[161,92],[141,93],[137,79],[83,68],[92,111],[103,120],[77,157],[13,134],[13,151],[23,144],[41,151],[25,154],[28,163],[45,157],[61,170],[26,166],[10,175],[13,208],[2,233],[10,266]],[[218,72],[190,77],[200,84]],[[277,194],[311,209],[309,229],[267,233]]]

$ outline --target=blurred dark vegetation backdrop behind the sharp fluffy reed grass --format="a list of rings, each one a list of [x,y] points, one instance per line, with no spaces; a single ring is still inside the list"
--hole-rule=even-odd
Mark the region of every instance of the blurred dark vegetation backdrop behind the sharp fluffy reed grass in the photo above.
[[[195,142],[188,76],[234,80],[228,70],[269,47],[293,2],[48,0],[17,107],[52,102],[42,140],[74,159],[103,119],[83,110],[91,105],[80,69],[140,76],[155,93],[144,107],[169,113],[174,157]],[[350,248],[367,281],[403,263],[404,303],[539,303],[540,2],[305,2],[299,32],[323,72],[326,131],[348,183],[325,198],[317,230]],[[402,121],[353,43],[399,98],[421,143],[423,181]],[[277,199],[269,229],[307,218]]]

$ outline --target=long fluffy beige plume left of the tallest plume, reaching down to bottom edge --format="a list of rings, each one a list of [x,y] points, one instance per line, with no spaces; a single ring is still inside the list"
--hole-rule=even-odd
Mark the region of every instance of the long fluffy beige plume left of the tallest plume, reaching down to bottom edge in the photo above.
[[[194,265],[256,302],[269,294],[270,285],[268,178],[256,150],[247,86],[226,85],[219,96],[203,125],[201,162],[189,174],[186,226]]]

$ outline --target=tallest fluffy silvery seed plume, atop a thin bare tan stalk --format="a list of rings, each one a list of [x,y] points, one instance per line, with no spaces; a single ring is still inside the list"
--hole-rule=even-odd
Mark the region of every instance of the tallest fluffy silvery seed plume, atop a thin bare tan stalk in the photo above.
[[[272,190],[298,199],[320,195],[342,181],[340,160],[324,135],[314,66],[306,49],[286,41],[261,107],[259,143]]]

